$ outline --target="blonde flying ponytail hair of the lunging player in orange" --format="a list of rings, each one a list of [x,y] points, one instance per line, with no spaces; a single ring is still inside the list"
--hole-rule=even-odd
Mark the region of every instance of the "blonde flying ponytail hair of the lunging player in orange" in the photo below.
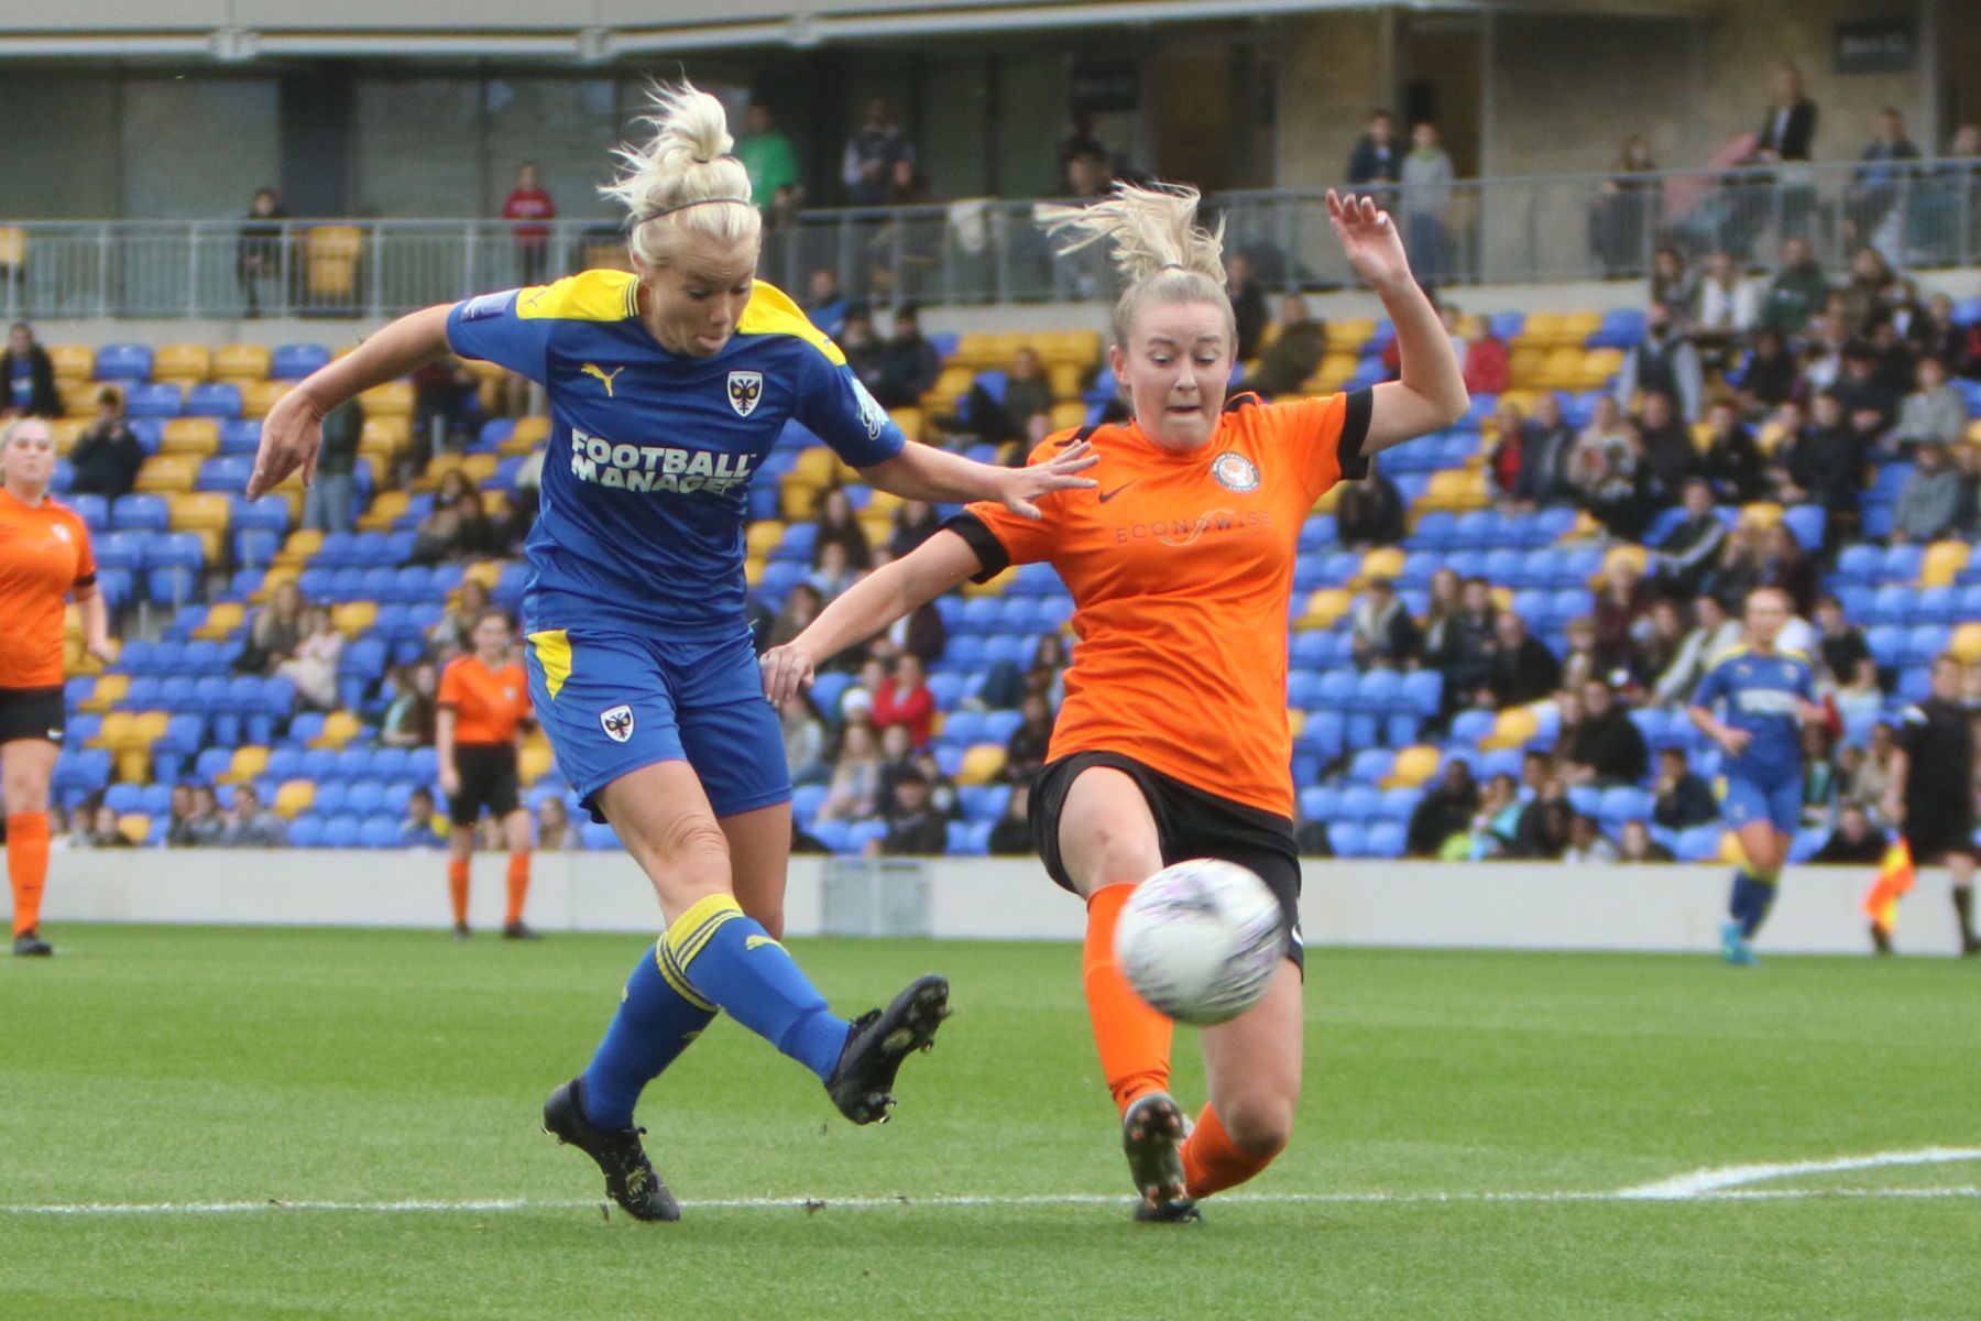
[[[1038,206],[1032,216],[1060,255],[1107,244],[1107,257],[1127,281],[1115,299],[1113,343],[1127,347],[1143,303],[1214,303],[1236,353],[1238,319],[1224,291],[1224,222],[1197,224],[1197,188],[1121,184],[1088,206]]]

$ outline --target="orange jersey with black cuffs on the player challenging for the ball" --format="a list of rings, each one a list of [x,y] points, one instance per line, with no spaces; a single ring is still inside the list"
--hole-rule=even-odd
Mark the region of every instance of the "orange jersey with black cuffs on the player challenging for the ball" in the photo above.
[[[1208,444],[1169,454],[1135,424],[1090,434],[1095,487],[1044,519],[977,503],[951,523],[987,580],[1050,562],[1074,596],[1072,667],[1050,757],[1109,751],[1236,802],[1294,814],[1286,628],[1300,525],[1361,477],[1367,390],[1264,404],[1240,394]],[[1072,442],[1048,438],[1034,459]]]

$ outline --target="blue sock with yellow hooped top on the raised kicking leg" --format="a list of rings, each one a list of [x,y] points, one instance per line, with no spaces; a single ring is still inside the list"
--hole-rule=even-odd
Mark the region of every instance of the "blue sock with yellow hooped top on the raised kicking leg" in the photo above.
[[[826,1010],[784,947],[743,915],[731,895],[709,895],[660,939],[660,970],[674,990],[739,1024],[824,1081],[846,1048],[846,1020]]]

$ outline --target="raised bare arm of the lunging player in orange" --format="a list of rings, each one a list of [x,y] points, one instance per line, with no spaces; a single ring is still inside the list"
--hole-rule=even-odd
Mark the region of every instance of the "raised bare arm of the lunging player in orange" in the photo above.
[[[1349,265],[1383,299],[1383,311],[1397,327],[1397,353],[1403,358],[1403,376],[1375,388],[1363,454],[1401,446],[1464,418],[1472,396],[1466,394],[1458,355],[1452,353],[1452,341],[1444,335],[1430,299],[1410,275],[1403,238],[1389,212],[1369,198],[1355,194],[1343,198],[1329,188],[1327,220],[1341,240]]]

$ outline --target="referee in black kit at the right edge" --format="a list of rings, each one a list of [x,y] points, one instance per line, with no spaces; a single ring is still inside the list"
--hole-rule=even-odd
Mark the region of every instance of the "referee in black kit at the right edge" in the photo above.
[[[1933,661],[1933,691],[1906,707],[1884,790],[1884,818],[1898,824],[1916,867],[1943,864],[1953,875],[1961,953],[1981,953],[1975,937],[1975,713],[1959,703],[1961,661]]]

